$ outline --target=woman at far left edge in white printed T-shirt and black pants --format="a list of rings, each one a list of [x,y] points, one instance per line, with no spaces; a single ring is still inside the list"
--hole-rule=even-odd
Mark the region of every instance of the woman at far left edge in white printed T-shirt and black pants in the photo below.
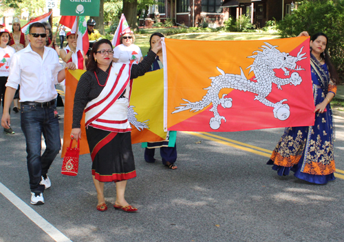
[[[10,63],[13,54],[16,52],[14,48],[10,47],[10,32],[6,28],[0,29],[0,102],[2,99],[2,108],[3,102],[5,101],[5,92],[6,92],[6,83],[8,75],[10,74]],[[2,95],[2,97],[1,97]],[[12,128],[3,128],[3,132],[6,134],[14,134]]]

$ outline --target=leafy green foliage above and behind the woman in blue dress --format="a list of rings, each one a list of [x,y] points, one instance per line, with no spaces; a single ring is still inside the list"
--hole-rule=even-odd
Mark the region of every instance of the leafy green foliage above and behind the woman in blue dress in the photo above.
[[[302,31],[311,36],[317,32],[327,35],[327,48],[332,62],[343,79],[344,74],[344,0],[301,1],[294,12],[277,23],[282,37],[295,37]]]

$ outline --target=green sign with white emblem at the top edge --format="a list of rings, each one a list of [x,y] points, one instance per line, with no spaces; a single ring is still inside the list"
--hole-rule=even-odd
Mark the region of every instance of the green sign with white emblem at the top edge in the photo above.
[[[100,0],[61,0],[62,16],[99,16]]]

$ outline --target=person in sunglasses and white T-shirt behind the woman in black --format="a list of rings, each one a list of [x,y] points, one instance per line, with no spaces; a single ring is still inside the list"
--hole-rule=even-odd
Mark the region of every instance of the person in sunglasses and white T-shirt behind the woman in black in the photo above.
[[[114,62],[138,64],[142,61],[142,52],[140,47],[133,44],[135,36],[131,30],[120,33],[120,45],[114,48]]]

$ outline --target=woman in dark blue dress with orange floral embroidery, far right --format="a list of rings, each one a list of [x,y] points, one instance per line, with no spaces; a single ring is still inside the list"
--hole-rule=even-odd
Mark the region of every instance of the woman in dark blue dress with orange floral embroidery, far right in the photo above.
[[[302,32],[299,36],[308,36]],[[268,165],[277,174],[294,176],[310,183],[325,184],[335,179],[334,132],[330,101],[336,94],[338,74],[327,54],[327,36],[314,34],[310,41],[315,121],[313,126],[286,128],[272,152]]]

